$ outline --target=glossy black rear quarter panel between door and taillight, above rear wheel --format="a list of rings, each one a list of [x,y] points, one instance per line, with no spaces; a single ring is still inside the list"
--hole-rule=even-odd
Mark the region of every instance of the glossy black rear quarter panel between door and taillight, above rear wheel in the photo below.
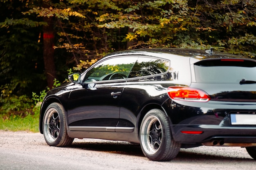
[[[121,98],[120,119],[135,126],[144,106],[148,104],[161,106],[168,98],[166,94],[168,85],[157,83],[128,81]]]

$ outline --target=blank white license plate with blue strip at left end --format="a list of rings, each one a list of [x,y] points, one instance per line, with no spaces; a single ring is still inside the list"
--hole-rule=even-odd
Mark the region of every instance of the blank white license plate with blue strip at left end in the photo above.
[[[256,115],[230,114],[231,125],[256,125]]]

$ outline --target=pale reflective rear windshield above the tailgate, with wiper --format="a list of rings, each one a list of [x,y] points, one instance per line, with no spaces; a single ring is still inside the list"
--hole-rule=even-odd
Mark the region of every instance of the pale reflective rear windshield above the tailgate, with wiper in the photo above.
[[[203,60],[194,64],[195,79],[200,83],[239,83],[256,81],[256,62],[243,59]]]

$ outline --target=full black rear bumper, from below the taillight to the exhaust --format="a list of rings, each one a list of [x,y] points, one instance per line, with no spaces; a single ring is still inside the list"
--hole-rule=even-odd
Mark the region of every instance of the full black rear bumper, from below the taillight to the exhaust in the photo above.
[[[162,106],[173,125],[171,127],[173,139],[181,144],[256,146],[256,123],[231,124],[234,120],[231,120],[230,116],[231,114],[256,115],[255,102],[167,100]],[[249,118],[254,119],[254,117]],[[194,133],[186,133],[190,131]]]

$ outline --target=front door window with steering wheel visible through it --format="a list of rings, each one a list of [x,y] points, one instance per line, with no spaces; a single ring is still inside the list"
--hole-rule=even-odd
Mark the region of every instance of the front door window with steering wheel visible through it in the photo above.
[[[83,82],[126,79],[138,57],[114,57],[100,62],[85,75]]]

